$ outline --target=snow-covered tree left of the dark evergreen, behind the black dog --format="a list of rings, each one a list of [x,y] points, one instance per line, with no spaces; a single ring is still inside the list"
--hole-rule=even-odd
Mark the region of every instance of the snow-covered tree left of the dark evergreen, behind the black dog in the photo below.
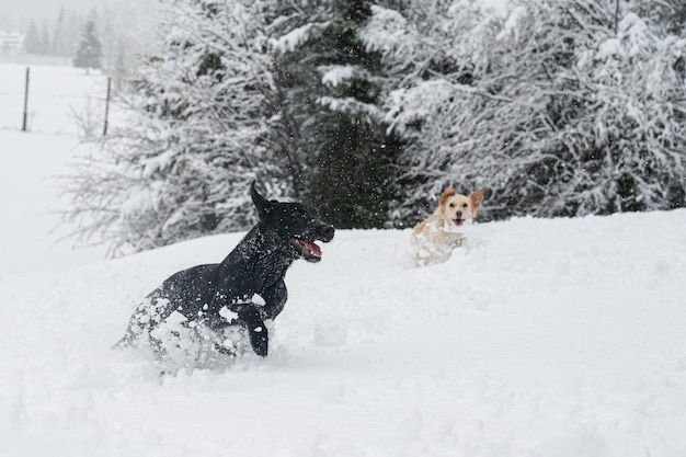
[[[254,222],[258,179],[283,192],[264,112],[272,90],[261,2],[175,0],[159,53],[126,102],[126,126],[102,140],[70,190],[80,240],[135,251]],[[278,181],[281,182],[281,181]]]

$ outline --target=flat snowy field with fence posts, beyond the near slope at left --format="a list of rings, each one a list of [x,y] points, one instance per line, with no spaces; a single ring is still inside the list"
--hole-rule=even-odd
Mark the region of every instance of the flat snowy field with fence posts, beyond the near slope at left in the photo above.
[[[66,201],[58,175],[90,128],[102,132],[106,78],[65,67],[31,66],[27,133],[21,132],[26,66],[0,64],[0,274],[65,269],[104,256],[57,240]],[[116,108],[112,106],[112,117]],[[55,231],[48,236],[50,230]]]

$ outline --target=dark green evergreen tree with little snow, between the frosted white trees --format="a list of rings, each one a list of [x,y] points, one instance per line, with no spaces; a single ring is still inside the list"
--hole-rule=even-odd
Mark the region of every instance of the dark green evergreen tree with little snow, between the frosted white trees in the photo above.
[[[276,42],[301,193],[341,228],[382,227],[399,196],[402,141],[381,118],[380,55],[358,33],[369,16],[366,0],[324,2]]]

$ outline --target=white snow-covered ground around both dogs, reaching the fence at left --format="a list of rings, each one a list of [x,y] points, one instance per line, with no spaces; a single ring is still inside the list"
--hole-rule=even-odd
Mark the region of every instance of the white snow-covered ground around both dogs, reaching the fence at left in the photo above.
[[[243,233],[50,248],[77,138],[2,127],[3,457],[686,455],[686,209],[472,224],[422,269],[409,230],[339,230],[289,270],[268,357],[160,377],[111,345]]]

